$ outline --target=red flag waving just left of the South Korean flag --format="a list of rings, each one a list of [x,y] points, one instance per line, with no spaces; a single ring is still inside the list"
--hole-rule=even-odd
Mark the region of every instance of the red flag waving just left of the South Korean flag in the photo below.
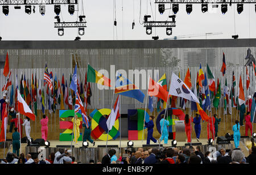
[[[149,79],[148,83],[148,95],[149,96],[156,96],[162,99],[163,101],[167,102],[168,100],[168,91],[156,83],[151,78]]]

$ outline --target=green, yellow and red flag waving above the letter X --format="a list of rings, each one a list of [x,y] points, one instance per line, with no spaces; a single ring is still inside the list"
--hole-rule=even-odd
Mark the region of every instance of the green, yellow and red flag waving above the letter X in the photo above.
[[[94,70],[90,65],[87,68],[87,82],[102,84],[104,86],[110,86],[110,79],[102,75],[100,72]]]

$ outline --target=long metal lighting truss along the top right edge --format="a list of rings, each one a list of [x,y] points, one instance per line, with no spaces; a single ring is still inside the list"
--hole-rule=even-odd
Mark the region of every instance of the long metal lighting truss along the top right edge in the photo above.
[[[155,0],[155,3],[256,3],[256,0]]]

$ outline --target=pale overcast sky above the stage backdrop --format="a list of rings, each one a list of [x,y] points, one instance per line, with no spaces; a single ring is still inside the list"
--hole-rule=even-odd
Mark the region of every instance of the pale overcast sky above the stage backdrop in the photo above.
[[[152,40],[152,35],[146,35],[146,28],[139,24],[139,0],[116,0],[117,27],[114,27],[113,0],[83,0],[84,14],[86,16],[85,35],[81,40]],[[123,8],[122,8],[123,7]],[[152,7],[152,10],[151,10]],[[156,7],[156,10],[155,10]],[[166,8],[170,5],[166,4]],[[79,15],[82,13],[82,3],[79,1]],[[2,7],[0,8],[2,11]],[[123,9],[123,11],[122,11]],[[36,12],[28,15],[24,12],[24,6],[20,10],[9,7],[9,15],[0,12],[0,36],[2,40],[74,40],[78,35],[77,28],[65,28],[64,36],[58,36],[57,28],[54,28],[56,16],[53,5],[46,5],[46,14]],[[152,14],[153,13],[153,14]],[[166,10],[163,15],[158,12],[158,4],[154,0],[142,0],[141,22],[144,15],[151,15],[153,20],[167,20],[172,15],[172,10]],[[67,5],[61,5],[61,22],[76,22],[77,12],[71,16]],[[236,34],[239,39],[256,37],[256,13],[254,4],[244,4],[243,12],[237,13],[237,5],[228,5],[228,12],[221,14],[220,6],[212,9],[208,6],[208,12],[201,12],[201,5],[193,5],[190,15],[185,11],[185,5],[179,5],[176,14],[176,27],[172,29],[172,36],[166,35],[166,28],[156,28],[156,36],[159,39],[181,35],[203,35],[190,39],[205,39],[205,33],[222,32],[222,35],[207,36],[207,39],[231,39],[235,34],[234,19],[236,21]],[[135,20],[135,28],[131,24]],[[171,20],[171,19],[169,19]],[[114,31],[114,32],[113,32]],[[189,39],[189,38],[184,38]]]

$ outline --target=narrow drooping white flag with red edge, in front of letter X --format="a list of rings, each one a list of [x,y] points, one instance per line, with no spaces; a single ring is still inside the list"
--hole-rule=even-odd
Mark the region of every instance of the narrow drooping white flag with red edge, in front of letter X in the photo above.
[[[112,127],[115,121],[120,117],[119,107],[120,107],[120,102],[119,102],[119,95],[118,95],[117,100],[115,100],[115,104],[111,110],[111,113],[109,114],[109,118],[106,121],[106,125],[108,126],[109,131],[112,130]]]

